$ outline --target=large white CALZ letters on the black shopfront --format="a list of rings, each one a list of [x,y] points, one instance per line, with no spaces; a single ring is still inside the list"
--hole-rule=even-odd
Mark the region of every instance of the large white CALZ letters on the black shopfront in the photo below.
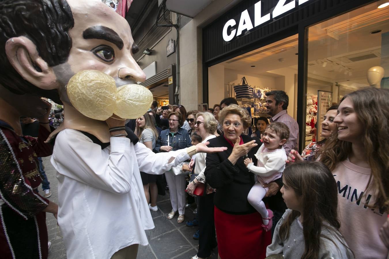
[[[301,4],[308,2],[308,1],[309,0],[298,0],[298,5],[301,5]],[[226,24],[224,24],[223,39],[226,42],[229,42],[235,36],[241,35],[244,30],[250,31],[253,28],[258,27],[259,25],[270,21],[270,19],[272,17],[273,18],[278,17],[281,14],[284,14],[285,12],[292,10],[293,8],[296,7],[296,0],[293,0],[287,4],[285,4],[286,0],[279,0],[277,5],[274,7],[274,10],[271,14],[269,12],[268,14],[265,14],[262,16],[261,2],[262,1],[259,1],[254,5],[254,25],[253,25],[252,20],[249,16],[249,11],[247,9],[244,10],[242,12],[242,14],[240,15],[240,20],[239,20],[239,24],[238,24],[237,29],[231,30],[237,24],[237,21],[235,21],[235,19],[230,19],[227,21]],[[231,29],[230,29],[230,27],[231,27]]]

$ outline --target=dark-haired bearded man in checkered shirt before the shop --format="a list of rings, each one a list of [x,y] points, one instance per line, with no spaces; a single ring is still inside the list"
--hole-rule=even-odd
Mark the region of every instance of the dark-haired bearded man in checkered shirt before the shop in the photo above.
[[[286,155],[291,149],[298,151],[298,124],[294,118],[287,114],[289,97],[284,91],[271,91],[266,94],[266,109],[268,115],[272,116],[270,122],[283,122],[289,128],[289,139],[284,144]]]

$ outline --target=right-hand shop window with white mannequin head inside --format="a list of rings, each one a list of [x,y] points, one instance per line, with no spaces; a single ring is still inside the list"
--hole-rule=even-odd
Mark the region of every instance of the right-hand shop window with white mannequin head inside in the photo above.
[[[389,88],[389,7],[378,8],[385,2],[308,27],[306,144],[322,139],[323,115],[345,94]]]

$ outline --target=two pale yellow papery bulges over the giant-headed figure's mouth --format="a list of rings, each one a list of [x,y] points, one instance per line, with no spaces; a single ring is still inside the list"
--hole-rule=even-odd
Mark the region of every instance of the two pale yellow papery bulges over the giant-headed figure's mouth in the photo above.
[[[95,120],[107,120],[112,114],[123,119],[139,118],[152,103],[149,89],[136,84],[116,88],[114,78],[97,70],[75,74],[66,90],[74,108]]]

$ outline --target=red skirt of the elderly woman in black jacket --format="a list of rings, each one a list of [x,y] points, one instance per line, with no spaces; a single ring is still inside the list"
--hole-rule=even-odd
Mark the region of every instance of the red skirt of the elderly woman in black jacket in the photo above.
[[[214,211],[217,247],[221,259],[266,257],[266,247],[272,243],[272,233],[262,228],[261,214],[227,214],[216,206]]]

